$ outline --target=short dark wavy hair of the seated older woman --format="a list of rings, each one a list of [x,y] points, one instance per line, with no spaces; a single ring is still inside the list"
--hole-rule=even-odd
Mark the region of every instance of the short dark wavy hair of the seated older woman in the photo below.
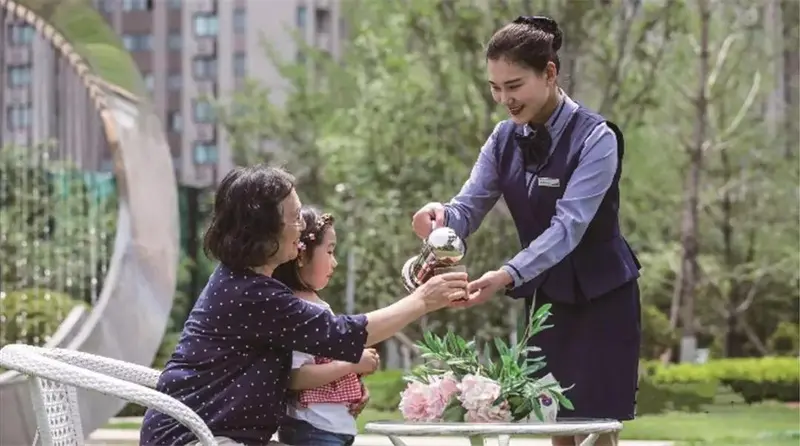
[[[289,172],[266,165],[237,167],[225,175],[203,239],[206,255],[232,269],[265,265],[278,252],[281,202],[294,183]]]

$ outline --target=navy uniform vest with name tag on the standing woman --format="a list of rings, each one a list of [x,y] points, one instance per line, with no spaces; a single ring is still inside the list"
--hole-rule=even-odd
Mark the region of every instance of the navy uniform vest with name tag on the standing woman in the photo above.
[[[514,138],[517,126],[501,124],[495,146],[500,189],[517,227],[523,248],[541,235],[556,213],[556,201],[564,195],[578,167],[586,138],[598,125],[608,124],[617,137],[619,163],[614,180],[578,246],[563,260],[519,287],[508,290],[514,298],[580,303],[635,280],[640,264],[619,229],[619,179],[625,144],[622,132],[602,116],[579,107],[567,123],[549,158],[539,167],[538,178],[558,179],[558,187],[539,186],[537,178],[526,181],[521,151]],[[570,150],[579,147],[578,150]],[[555,182],[550,182],[552,186]]]

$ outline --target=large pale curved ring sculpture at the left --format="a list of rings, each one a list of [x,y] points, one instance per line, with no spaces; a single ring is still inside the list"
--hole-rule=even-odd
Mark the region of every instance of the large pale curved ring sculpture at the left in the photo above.
[[[49,345],[149,366],[166,330],[179,261],[177,185],[162,125],[146,104],[97,79],[40,17],[10,0],[0,0],[0,10],[3,17],[33,26],[53,53],[67,61],[63,65],[74,70],[80,85],[73,87],[83,87],[89,100],[80,103],[83,110],[68,101],[61,107],[94,113],[114,163],[119,209],[102,291],[90,310],[70,314]],[[14,372],[0,375],[0,444],[33,440],[35,421],[24,380]],[[82,393],[79,401],[87,435],[124,405],[97,393]]]

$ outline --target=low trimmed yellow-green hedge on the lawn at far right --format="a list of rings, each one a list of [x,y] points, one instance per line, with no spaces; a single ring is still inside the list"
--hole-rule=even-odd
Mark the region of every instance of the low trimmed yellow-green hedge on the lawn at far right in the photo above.
[[[722,384],[747,403],[764,400],[797,401],[800,395],[798,358],[716,359],[705,364],[677,364],[652,368],[656,384]]]

